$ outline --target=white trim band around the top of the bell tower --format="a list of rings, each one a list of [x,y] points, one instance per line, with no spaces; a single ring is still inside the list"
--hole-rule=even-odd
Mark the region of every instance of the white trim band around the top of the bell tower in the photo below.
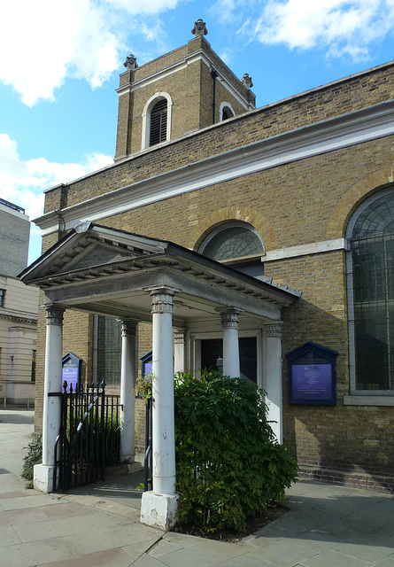
[[[178,73],[179,71],[186,69],[186,67],[188,65],[191,65],[192,63],[195,63],[196,61],[199,61],[199,60],[201,60],[203,63],[205,63],[206,66],[208,66],[210,68],[214,67],[215,71],[219,75],[219,79],[220,79],[220,82],[223,85],[223,87],[225,87],[225,89],[227,89],[228,92],[233,97],[236,98],[236,100],[239,102],[240,105],[243,105],[243,108],[245,109],[245,111],[256,109],[255,105],[252,105],[251,102],[249,102],[246,98],[244,98],[231,85],[231,83],[228,82],[226,77],[223,74],[220,73],[219,69],[216,68],[213,59],[209,58],[203,50],[195,51],[194,53],[190,54],[189,56],[182,58],[181,61],[177,61],[173,65],[166,66],[164,69],[160,69],[156,73],[152,73],[152,74],[148,75],[147,77],[143,77],[143,79],[139,79],[138,81],[135,81],[133,83],[127,83],[126,85],[123,85],[122,87],[117,89],[116,92],[119,94],[120,97],[122,95],[127,94],[127,93],[135,92],[135,90],[146,87],[147,85],[150,85],[153,82],[157,82],[157,81],[161,81],[163,79],[166,79],[166,77],[169,77],[170,75],[172,75],[174,73]],[[229,71],[229,73],[232,73],[232,72]],[[234,75],[234,77],[237,78],[236,75]]]

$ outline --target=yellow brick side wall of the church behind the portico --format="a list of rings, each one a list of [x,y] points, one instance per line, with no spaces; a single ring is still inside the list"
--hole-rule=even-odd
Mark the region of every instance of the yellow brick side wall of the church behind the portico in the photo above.
[[[208,89],[208,82],[205,87]],[[376,105],[393,95],[394,65],[206,128],[189,139],[151,149],[102,174],[69,183],[62,202],[72,206],[242,144]],[[359,203],[392,183],[393,147],[393,136],[386,136],[142,206],[100,223],[173,240],[193,249],[197,249],[212,227],[229,220],[250,222],[259,230],[267,252],[343,237],[346,223]],[[58,190],[47,193],[47,210],[56,205],[58,198]],[[45,242],[49,245],[50,238]],[[392,473],[393,408],[349,407],[343,403],[344,395],[349,393],[344,252],[267,261],[265,270],[266,276],[273,276],[274,283],[287,283],[303,292],[302,298],[282,314],[284,435],[290,450],[297,454],[301,464],[344,472],[359,468],[371,475],[377,470]],[[42,349],[40,321],[39,349]],[[80,334],[75,338],[73,330],[77,327]],[[86,360],[88,375],[90,333],[89,316],[66,314],[64,351],[78,348],[76,353]],[[151,349],[150,325],[139,325],[138,338],[139,356],[142,356]],[[287,402],[285,354],[308,340],[339,353],[336,407],[295,406]],[[42,356],[41,350],[37,361],[37,419],[42,412],[39,400]],[[138,419],[143,419],[140,410],[139,415]]]

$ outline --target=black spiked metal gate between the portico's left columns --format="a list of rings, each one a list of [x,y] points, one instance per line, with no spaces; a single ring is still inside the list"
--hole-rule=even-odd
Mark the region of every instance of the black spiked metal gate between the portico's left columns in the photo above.
[[[53,492],[104,480],[106,466],[120,463],[120,400],[106,395],[105,383],[49,394],[61,398],[55,443]]]

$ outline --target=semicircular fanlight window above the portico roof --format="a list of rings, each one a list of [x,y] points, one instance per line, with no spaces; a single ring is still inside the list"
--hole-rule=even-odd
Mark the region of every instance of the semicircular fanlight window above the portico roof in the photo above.
[[[264,253],[257,230],[243,222],[220,225],[205,238],[200,253],[212,260],[231,260]]]

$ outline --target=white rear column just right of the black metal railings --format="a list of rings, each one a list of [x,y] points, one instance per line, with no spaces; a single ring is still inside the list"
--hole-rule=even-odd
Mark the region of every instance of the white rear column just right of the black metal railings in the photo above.
[[[135,348],[137,322],[121,322],[120,369],[120,462],[134,462],[135,456]]]

